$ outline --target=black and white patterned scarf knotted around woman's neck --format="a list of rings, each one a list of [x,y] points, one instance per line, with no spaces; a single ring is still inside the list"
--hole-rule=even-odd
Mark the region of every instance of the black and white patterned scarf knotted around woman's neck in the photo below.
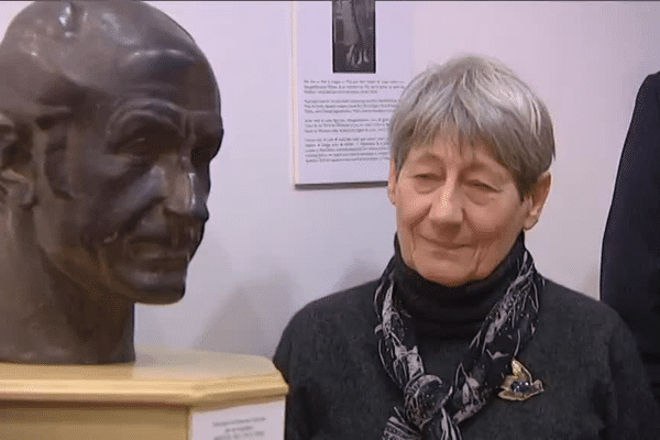
[[[393,257],[374,297],[381,361],[404,393],[404,405],[393,408],[383,439],[459,440],[459,424],[486,404],[536,331],[543,278],[525,249],[515,262],[517,276],[486,316],[449,383],[425,373],[413,318],[395,294],[395,263]]]

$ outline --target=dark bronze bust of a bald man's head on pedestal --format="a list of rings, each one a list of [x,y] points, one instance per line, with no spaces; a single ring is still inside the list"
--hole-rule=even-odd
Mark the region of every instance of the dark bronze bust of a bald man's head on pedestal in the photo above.
[[[222,141],[211,67],[136,1],[35,2],[0,43],[0,361],[134,360],[182,298]]]

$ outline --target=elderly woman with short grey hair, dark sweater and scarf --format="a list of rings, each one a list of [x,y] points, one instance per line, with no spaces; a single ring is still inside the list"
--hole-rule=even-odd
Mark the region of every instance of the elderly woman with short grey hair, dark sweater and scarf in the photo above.
[[[285,329],[287,438],[660,439],[625,324],[525,248],[554,154],[541,100],[460,57],[410,82],[389,140],[394,257]]]

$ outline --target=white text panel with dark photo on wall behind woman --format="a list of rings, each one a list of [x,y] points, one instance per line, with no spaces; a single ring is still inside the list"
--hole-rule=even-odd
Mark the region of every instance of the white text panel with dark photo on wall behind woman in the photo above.
[[[296,185],[387,179],[387,123],[411,72],[411,8],[293,3]]]

